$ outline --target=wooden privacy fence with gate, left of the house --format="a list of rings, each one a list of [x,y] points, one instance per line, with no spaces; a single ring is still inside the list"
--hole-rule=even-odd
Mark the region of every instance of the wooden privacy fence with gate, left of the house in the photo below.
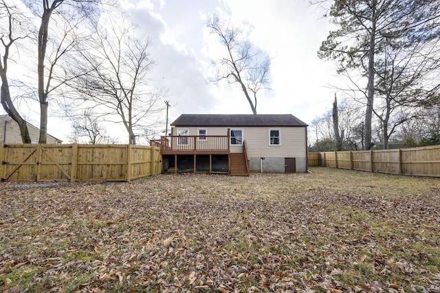
[[[144,145],[0,144],[1,180],[130,181],[160,174],[160,149]]]

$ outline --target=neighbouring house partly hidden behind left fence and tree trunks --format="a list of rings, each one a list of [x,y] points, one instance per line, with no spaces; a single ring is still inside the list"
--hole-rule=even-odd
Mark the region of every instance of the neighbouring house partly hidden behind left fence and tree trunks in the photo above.
[[[39,128],[28,123],[28,131],[32,143],[39,143]],[[0,115],[0,143],[23,143],[21,141],[19,124],[8,115]],[[47,134],[47,143],[63,143],[63,141]]]

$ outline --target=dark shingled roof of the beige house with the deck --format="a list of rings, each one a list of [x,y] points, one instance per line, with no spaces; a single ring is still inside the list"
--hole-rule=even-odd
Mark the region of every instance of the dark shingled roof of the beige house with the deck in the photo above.
[[[218,115],[218,114],[182,114],[171,126],[308,126],[292,114],[257,115]]]

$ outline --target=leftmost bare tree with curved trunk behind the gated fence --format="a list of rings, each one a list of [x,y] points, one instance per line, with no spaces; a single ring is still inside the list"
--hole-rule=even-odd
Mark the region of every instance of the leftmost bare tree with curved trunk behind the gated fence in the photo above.
[[[28,23],[26,16],[19,11],[19,8],[8,5],[4,0],[0,2],[0,21],[0,40],[3,46],[1,52],[3,56],[0,60],[1,105],[5,112],[19,124],[23,143],[31,143],[28,124],[14,105],[8,80],[8,61],[10,60],[11,47],[18,46],[17,42],[30,37],[30,23]]]

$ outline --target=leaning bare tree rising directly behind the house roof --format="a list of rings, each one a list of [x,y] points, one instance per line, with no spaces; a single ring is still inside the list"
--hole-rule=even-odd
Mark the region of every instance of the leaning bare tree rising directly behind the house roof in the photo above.
[[[269,83],[269,57],[245,40],[239,28],[223,23],[217,14],[212,15],[206,25],[226,49],[225,57],[213,61],[217,74],[212,81],[239,84],[252,113],[256,114],[256,95]]]

